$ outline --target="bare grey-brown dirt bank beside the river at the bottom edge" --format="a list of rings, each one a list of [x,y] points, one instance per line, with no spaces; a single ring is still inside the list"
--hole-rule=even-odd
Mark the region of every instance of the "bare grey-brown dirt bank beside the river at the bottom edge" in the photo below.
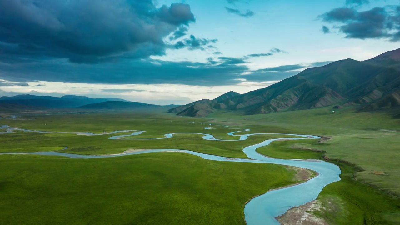
[[[275,217],[281,225],[327,225],[322,218],[316,217],[312,212],[324,209],[322,204],[314,200],[289,209],[285,214]]]

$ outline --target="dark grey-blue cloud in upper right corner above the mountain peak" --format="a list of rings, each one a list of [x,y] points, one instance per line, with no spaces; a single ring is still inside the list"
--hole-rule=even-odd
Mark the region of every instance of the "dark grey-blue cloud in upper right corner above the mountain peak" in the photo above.
[[[354,8],[336,8],[321,15],[324,22],[336,24],[335,27],[346,38],[388,38],[399,41],[400,7],[374,7],[367,11],[357,11]]]

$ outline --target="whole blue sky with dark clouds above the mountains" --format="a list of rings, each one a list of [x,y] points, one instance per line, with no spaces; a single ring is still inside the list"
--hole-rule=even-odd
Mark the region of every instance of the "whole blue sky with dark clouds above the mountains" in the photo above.
[[[0,0],[0,96],[187,104],[400,46],[400,0]]]

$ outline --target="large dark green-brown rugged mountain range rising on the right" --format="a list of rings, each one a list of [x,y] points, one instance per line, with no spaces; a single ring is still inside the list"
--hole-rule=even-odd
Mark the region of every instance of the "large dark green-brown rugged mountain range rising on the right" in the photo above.
[[[169,110],[204,117],[217,110],[245,115],[359,104],[360,110],[399,106],[400,49],[363,62],[346,59],[308,68],[276,84],[245,94],[228,92]]]

